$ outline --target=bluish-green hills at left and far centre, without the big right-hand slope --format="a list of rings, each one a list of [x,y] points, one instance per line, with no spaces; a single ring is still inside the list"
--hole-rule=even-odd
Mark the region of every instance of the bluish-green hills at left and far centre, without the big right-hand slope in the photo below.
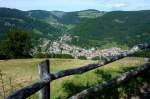
[[[68,28],[85,19],[102,16],[104,12],[85,10],[77,12],[0,8],[0,37],[11,28],[23,28],[33,32],[35,39],[57,39]]]

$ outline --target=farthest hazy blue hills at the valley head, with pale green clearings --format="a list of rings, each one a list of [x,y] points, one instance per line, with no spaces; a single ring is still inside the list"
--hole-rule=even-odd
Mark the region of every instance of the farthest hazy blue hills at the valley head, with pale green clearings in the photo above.
[[[27,11],[27,13],[32,18],[39,19],[52,25],[68,26],[78,24],[86,19],[97,18],[102,16],[105,12],[89,9],[76,12],[32,10]]]

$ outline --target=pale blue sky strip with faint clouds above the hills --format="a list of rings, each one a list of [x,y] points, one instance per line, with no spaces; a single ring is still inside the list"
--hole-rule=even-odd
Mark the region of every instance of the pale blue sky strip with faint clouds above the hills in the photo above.
[[[97,9],[114,10],[150,10],[150,0],[0,0],[0,7],[20,10],[61,10],[79,11]]]

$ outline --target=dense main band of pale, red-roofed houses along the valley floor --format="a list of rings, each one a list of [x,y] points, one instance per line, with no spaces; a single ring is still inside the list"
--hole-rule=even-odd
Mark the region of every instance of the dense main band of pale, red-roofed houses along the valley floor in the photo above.
[[[97,48],[84,49],[77,46],[71,46],[66,43],[60,43],[58,41],[53,42],[48,49],[48,53],[70,54],[75,58],[78,58],[79,56],[85,56],[88,59],[97,56],[103,57],[114,56],[116,54],[119,54],[120,52],[122,52],[122,50],[117,47],[109,49],[97,49]]]

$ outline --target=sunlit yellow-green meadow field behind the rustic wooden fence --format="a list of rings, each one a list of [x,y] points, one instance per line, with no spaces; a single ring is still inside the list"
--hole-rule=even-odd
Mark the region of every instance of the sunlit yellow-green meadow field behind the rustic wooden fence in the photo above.
[[[4,93],[8,95],[16,89],[36,81],[38,79],[38,63],[42,60],[44,59],[1,60],[0,71],[2,73],[2,78],[0,78],[0,98],[3,98]],[[51,72],[57,72],[59,70],[75,68],[95,62],[96,61],[77,59],[50,59],[50,70]],[[66,99],[68,96],[80,92],[83,89],[108,81],[144,63],[146,63],[146,60],[143,58],[128,57],[82,75],[58,79],[51,83],[51,99]],[[118,88],[117,90],[121,90],[118,91],[117,97],[127,96],[126,90],[122,88]],[[38,94],[31,98],[36,99],[37,97]]]

